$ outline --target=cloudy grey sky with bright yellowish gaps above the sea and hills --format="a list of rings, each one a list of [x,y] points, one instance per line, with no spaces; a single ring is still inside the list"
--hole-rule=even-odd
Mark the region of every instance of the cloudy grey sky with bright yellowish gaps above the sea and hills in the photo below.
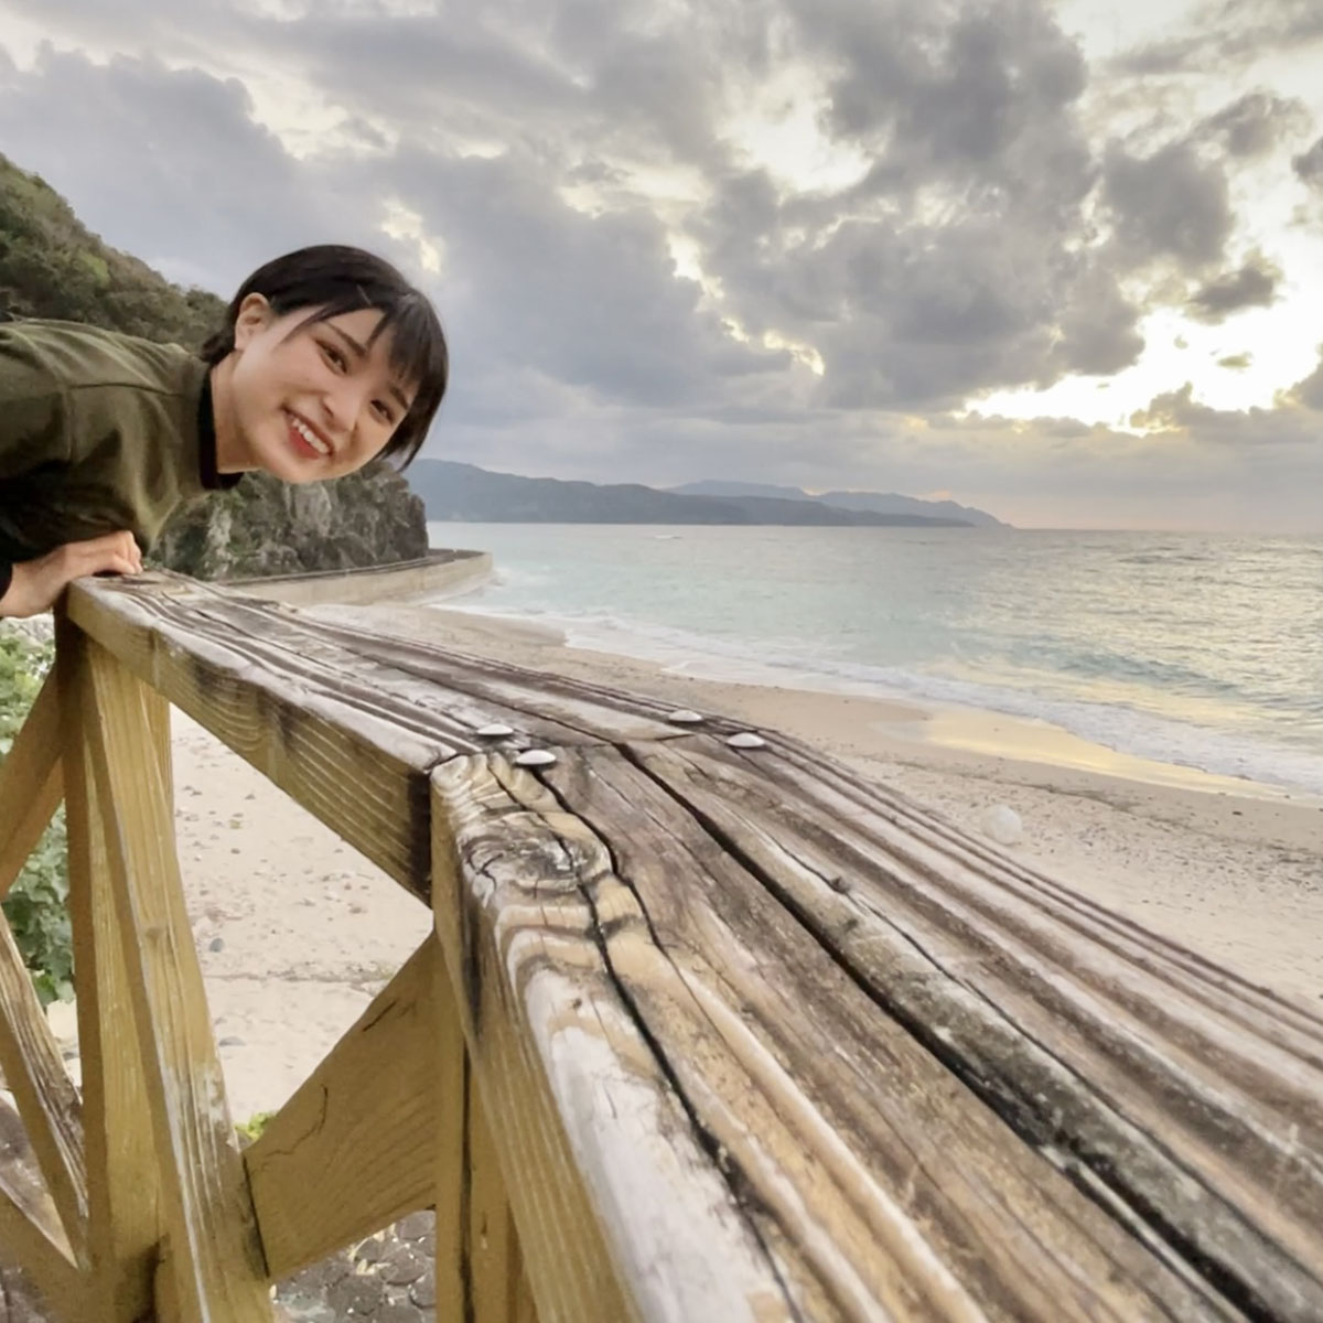
[[[426,454],[1323,532],[1318,0],[0,0],[0,151],[434,295]]]

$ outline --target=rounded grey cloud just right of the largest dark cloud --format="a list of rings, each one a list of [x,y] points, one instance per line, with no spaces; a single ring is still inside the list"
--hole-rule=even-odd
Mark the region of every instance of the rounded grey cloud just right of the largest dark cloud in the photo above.
[[[1221,261],[1234,226],[1226,175],[1188,142],[1148,156],[1113,143],[1103,161],[1103,197],[1118,253],[1130,266],[1162,258],[1199,271]]]

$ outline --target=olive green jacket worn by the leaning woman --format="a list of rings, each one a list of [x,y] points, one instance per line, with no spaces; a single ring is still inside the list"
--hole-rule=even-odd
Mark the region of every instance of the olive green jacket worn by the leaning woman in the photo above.
[[[127,529],[143,550],[216,474],[206,364],[71,321],[0,323],[0,594],[8,565]]]

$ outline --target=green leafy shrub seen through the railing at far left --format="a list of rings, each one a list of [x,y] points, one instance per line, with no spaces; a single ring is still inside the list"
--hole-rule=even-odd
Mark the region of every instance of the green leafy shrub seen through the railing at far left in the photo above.
[[[0,758],[50,669],[54,648],[16,630],[0,631]],[[45,1005],[73,996],[73,933],[69,926],[69,863],[61,807],[4,900],[15,942]]]

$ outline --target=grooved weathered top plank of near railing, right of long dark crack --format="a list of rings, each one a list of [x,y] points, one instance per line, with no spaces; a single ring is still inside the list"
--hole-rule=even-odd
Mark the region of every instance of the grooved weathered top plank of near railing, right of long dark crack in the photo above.
[[[631,750],[880,1011],[1156,1258],[1200,1263],[1226,1307],[1323,1311],[1308,1025],[1209,990],[1142,930],[1090,930],[1077,897],[810,750],[783,754]]]

